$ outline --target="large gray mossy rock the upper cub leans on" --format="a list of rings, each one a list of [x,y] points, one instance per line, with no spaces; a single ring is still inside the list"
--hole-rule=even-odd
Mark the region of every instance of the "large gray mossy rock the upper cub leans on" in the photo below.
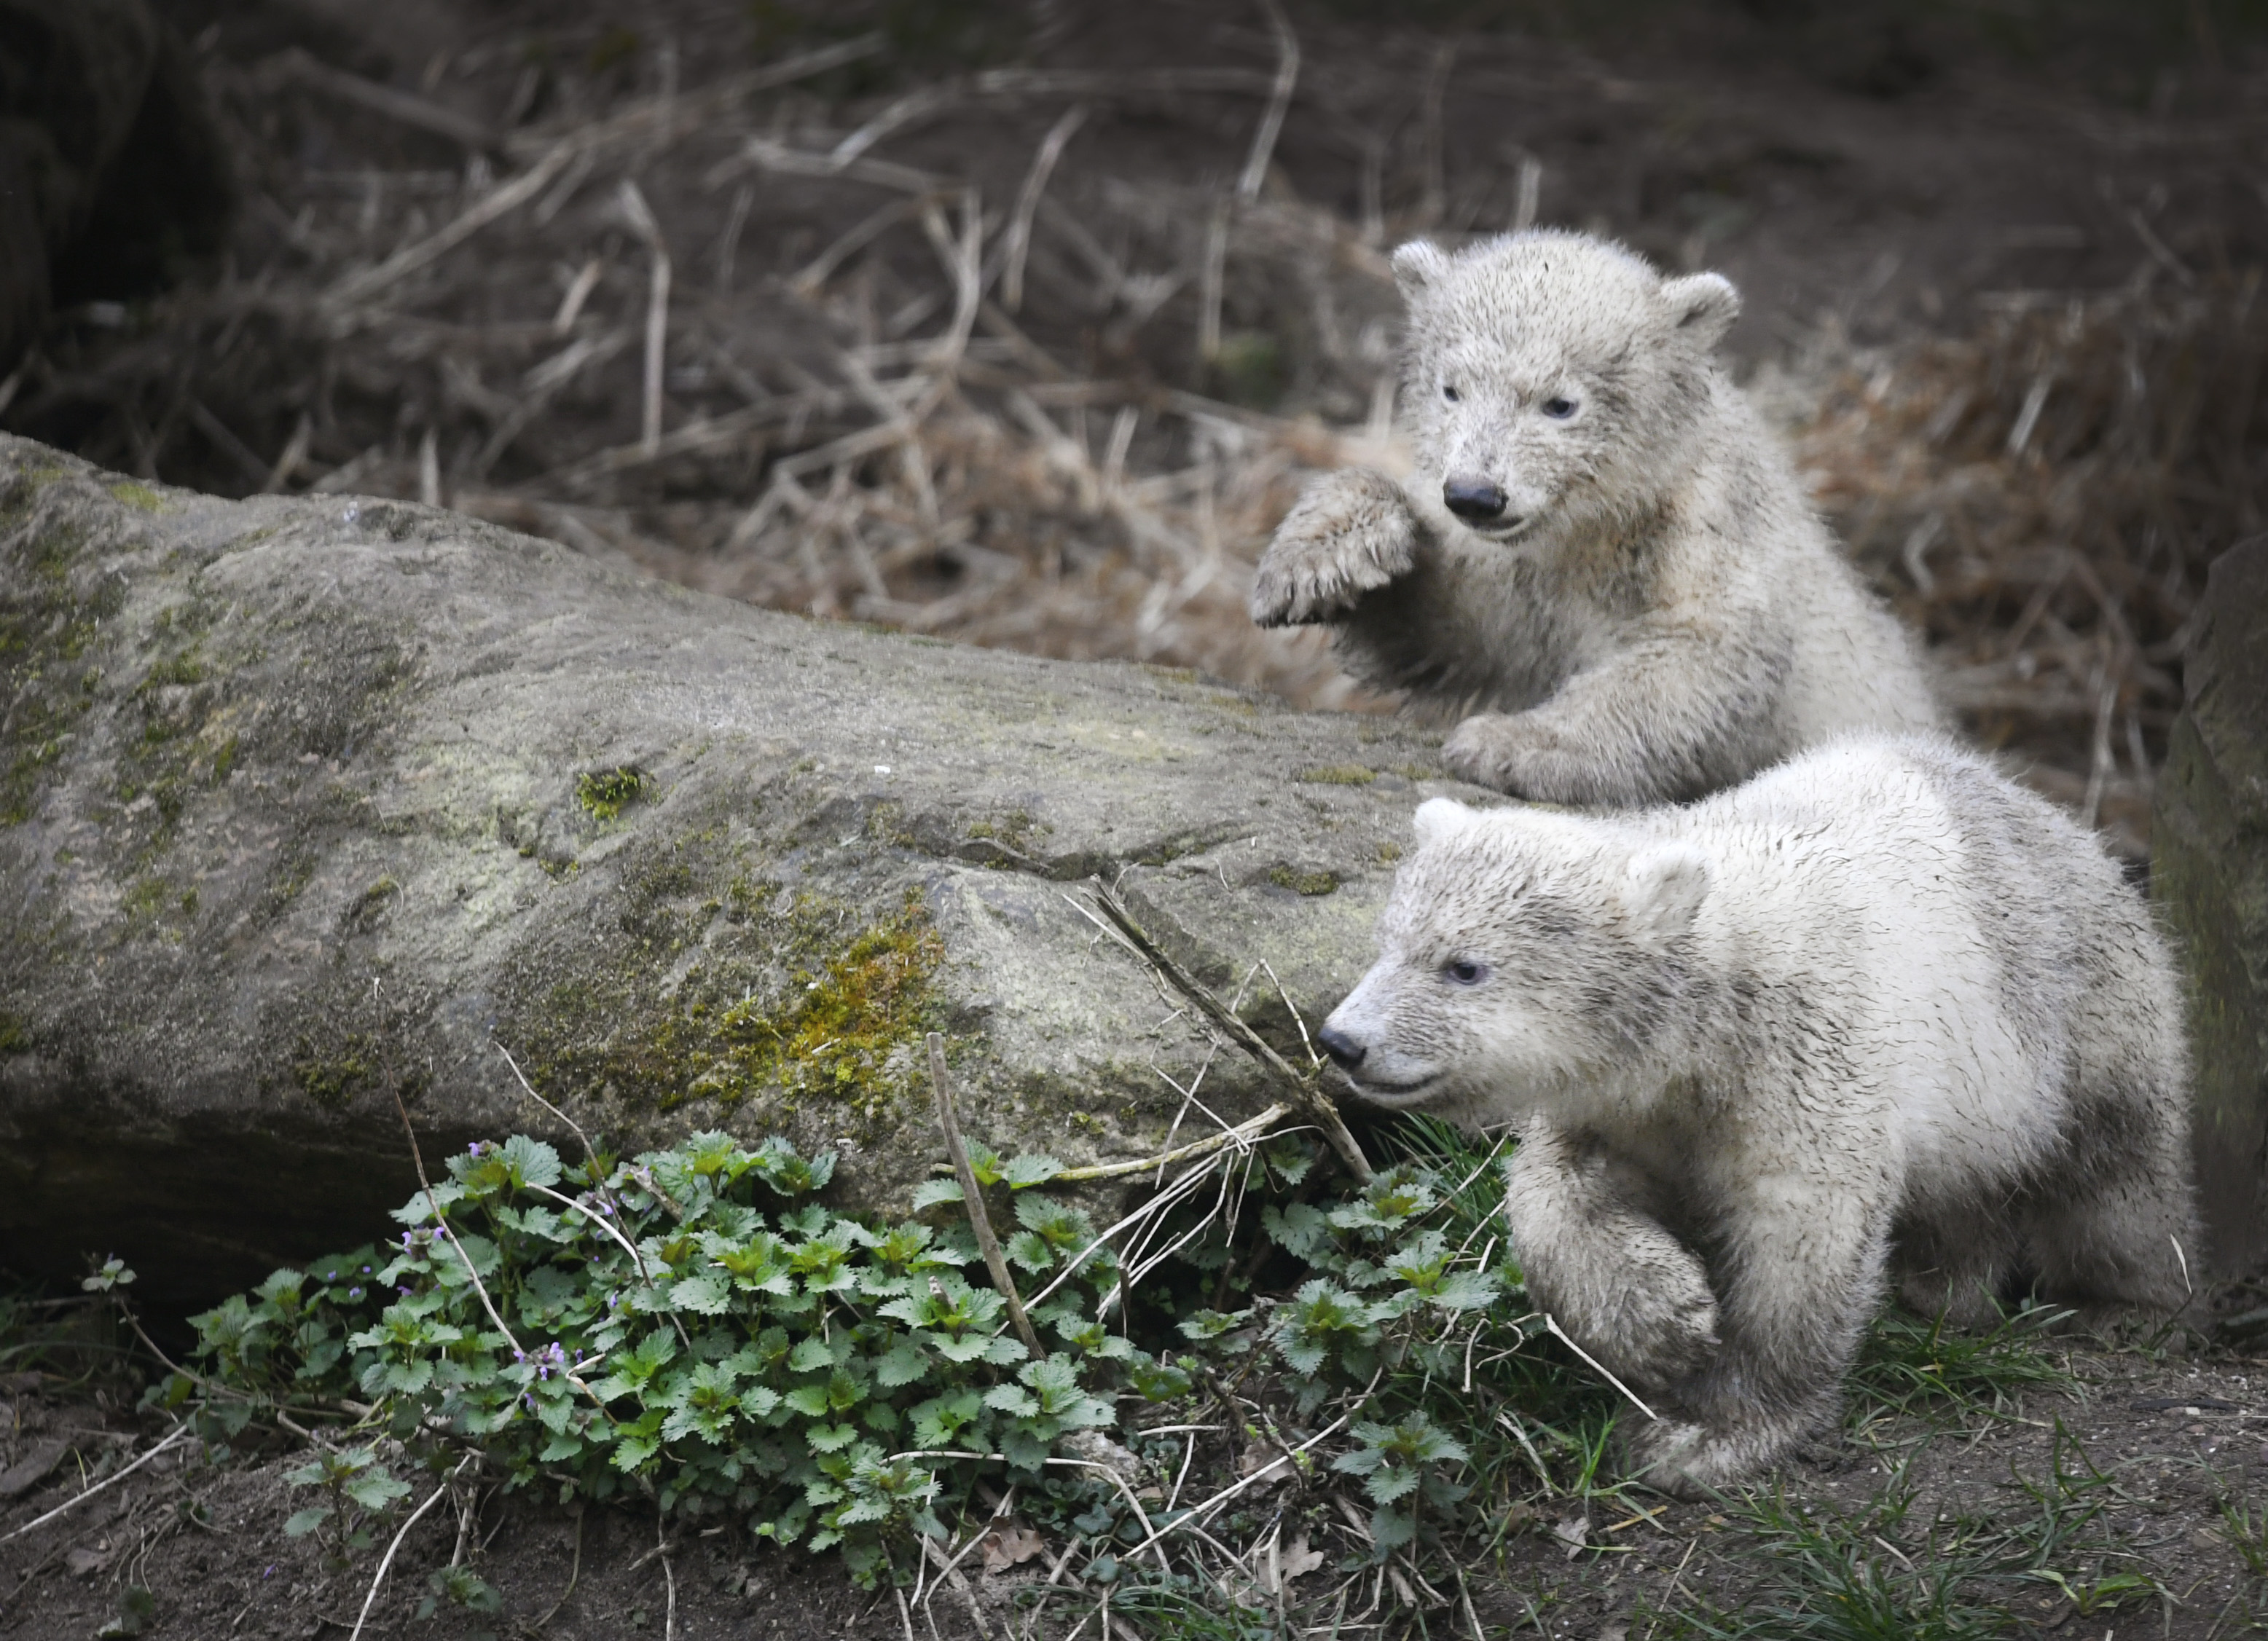
[[[213,501],[0,440],[0,1260],[193,1299],[556,1124],[1141,1156],[1204,1061],[1066,900],[1315,1020],[1436,737],[1191,673],[801,621],[392,501]],[[621,773],[631,771],[631,773]],[[1476,793],[1472,793],[1476,796]],[[1266,972],[1245,1011],[1297,1047]],[[1234,1054],[1204,1099],[1250,1113]],[[1184,1136],[1209,1117],[1191,1111]]]

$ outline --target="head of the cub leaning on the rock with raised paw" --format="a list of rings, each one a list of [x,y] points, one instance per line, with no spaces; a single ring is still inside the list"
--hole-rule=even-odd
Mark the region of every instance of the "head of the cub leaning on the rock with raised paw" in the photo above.
[[[1483,537],[1644,510],[1710,399],[1740,292],[1662,279],[1644,258],[1538,229],[1395,252],[1408,304],[1404,410],[1413,490]]]

